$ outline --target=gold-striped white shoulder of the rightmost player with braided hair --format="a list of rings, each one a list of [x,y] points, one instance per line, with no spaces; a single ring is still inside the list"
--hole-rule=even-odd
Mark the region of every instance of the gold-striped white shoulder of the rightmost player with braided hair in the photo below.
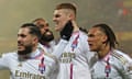
[[[113,49],[111,55],[123,65],[129,61],[129,56],[121,50]]]

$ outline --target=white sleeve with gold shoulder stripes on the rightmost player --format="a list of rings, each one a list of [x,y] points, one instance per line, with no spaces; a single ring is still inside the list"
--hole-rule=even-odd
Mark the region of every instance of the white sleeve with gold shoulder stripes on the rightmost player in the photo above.
[[[122,52],[114,50],[113,56],[117,58],[117,70],[123,79],[131,79],[132,78],[132,61],[130,60],[129,56]]]

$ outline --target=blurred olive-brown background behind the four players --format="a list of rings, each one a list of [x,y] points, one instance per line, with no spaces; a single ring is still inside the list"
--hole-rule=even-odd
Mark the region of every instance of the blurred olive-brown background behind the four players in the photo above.
[[[132,57],[132,0],[0,0],[0,53],[16,49],[16,34],[21,24],[44,18],[54,31],[53,11],[61,2],[77,4],[77,22],[85,29],[107,23],[116,32],[119,49]],[[9,79],[9,71],[0,71],[0,79]]]

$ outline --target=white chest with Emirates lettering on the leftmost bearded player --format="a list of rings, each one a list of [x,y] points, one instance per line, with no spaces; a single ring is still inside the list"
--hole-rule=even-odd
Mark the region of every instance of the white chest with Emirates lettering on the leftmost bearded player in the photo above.
[[[44,79],[47,75],[47,65],[41,64],[40,59],[19,61],[14,60],[10,70],[12,77],[24,79]]]

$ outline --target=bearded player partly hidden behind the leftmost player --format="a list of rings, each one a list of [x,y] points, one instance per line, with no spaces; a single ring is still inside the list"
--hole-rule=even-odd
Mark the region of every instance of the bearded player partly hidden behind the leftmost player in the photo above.
[[[48,23],[42,18],[35,19],[33,23],[41,30],[42,38],[40,40],[40,43],[42,44],[42,47],[46,53],[52,53],[56,42],[53,32],[48,29]]]

